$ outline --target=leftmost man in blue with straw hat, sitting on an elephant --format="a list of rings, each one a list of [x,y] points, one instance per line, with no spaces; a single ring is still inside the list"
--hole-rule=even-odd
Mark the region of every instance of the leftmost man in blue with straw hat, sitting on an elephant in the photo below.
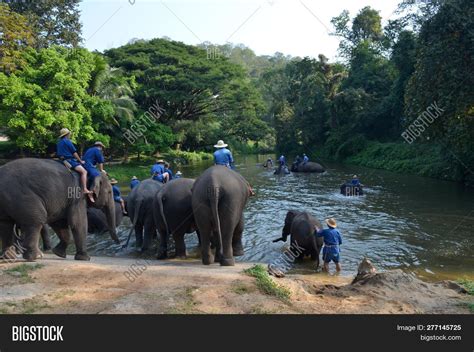
[[[77,154],[76,147],[71,142],[71,131],[67,128],[59,132],[59,141],[56,144],[56,155],[67,167],[77,171],[81,176],[82,192],[87,194],[89,200],[94,203],[92,192],[87,188],[87,171],[84,168],[85,161]]]

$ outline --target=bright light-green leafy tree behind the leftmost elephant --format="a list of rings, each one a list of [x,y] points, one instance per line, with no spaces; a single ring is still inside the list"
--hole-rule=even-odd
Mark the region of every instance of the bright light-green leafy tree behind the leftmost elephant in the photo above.
[[[0,121],[18,148],[44,153],[62,127],[77,142],[108,140],[95,127],[112,116],[113,107],[87,92],[96,54],[68,54],[61,47],[30,49],[22,71],[0,73]]]

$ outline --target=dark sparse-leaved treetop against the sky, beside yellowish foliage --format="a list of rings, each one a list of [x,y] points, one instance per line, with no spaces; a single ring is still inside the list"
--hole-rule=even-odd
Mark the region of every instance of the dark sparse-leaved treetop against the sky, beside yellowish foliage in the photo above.
[[[77,47],[81,42],[80,0],[11,1],[10,8],[25,16],[37,48]]]

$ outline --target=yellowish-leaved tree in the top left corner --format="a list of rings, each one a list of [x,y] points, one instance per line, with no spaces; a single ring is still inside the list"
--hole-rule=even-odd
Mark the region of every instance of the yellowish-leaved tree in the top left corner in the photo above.
[[[23,66],[22,51],[33,45],[34,38],[27,20],[0,3],[0,69],[14,72]]]

